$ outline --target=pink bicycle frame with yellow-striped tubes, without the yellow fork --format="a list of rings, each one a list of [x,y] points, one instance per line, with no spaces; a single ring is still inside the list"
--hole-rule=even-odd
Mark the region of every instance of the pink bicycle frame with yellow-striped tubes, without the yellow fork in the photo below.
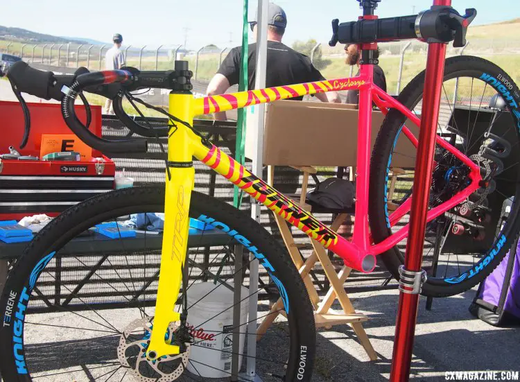
[[[359,130],[356,159],[356,219],[354,220],[354,234],[352,236],[352,241],[339,236],[336,234],[336,232],[333,232],[331,229],[325,227],[318,220],[315,220],[312,217],[311,218],[315,225],[320,225],[322,232],[327,232],[330,237],[333,237],[333,240],[320,241],[320,238],[317,238],[317,240],[323,243],[327,249],[338,254],[338,256],[340,256],[345,261],[347,266],[356,270],[360,270],[361,272],[372,272],[376,263],[375,256],[390,250],[390,248],[394,247],[397,243],[399,243],[399,241],[402,241],[408,235],[410,230],[409,224],[407,224],[404,227],[401,227],[397,232],[388,236],[388,238],[385,238],[385,240],[383,240],[381,243],[372,243],[368,225],[372,102],[375,103],[384,114],[387,114],[390,108],[394,108],[399,110],[399,112],[406,116],[406,118],[409,119],[412,123],[417,125],[417,127],[420,127],[421,124],[420,119],[412,111],[408,110],[408,108],[399,103],[399,101],[395,100],[395,98],[374,85],[373,73],[374,67],[372,64],[363,64],[361,65],[360,75],[354,78],[340,78],[338,80],[322,81],[320,83],[291,85],[236,94],[223,94],[222,96],[210,96],[197,100],[200,102],[195,106],[195,114],[208,114],[211,112],[237,109],[239,107],[255,105],[258,103],[277,101],[278,99],[290,98],[291,96],[324,93],[331,90],[358,89]],[[284,91],[285,93],[282,94],[281,91]],[[408,139],[410,139],[415,147],[417,147],[418,141],[413,133],[410,132],[406,126],[403,126],[401,131]],[[466,198],[468,198],[471,193],[478,189],[479,182],[482,180],[480,176],[480,168],[474,162],[472,162],[471,159],[462,154],[460,150],[453,147],[447,141],[438,136],[436,143],[445,150],[448,150],[452,155],[460,159],[462,163],[470,168],[469,180],[471,182],[465,189],[459,191],[451,199],[443,202],[441,205],[434,207],[433,209],[430,209],[427,214],[427,221],[431,221],[434,218],[437,218],[437,216],[440,216],[445,211],[448,211],[449,209],[459,205],[461,202],[466,200]],[[225,156],[224,153],[221,153],[220,150],[214,147],[211,153],[205,159],[202,159],[202,162],[209,164],[209,161],[211,158],[213,158],[214,153],[216,153],[216,157]],[[235,166],[236,168],[240,167],[242,172],[246,171],[240,164],[234,162],[233,159],[228,160],[232,166]],[[215,168],[214,166],[212,167]],[[223,175],[227,177],[227,173],[223,173]],[[230,180],[229,177],[228,179]],[[261,186],[264,190],[269,190],[273,196],[276,196],[277,200],[281,200],[286,203],[286,206],[295,205],[295,203],[291,203],[291,200],[288,200],[286,197],[282,196],[278,191],[265,184],[265,182],[258,180],[256,177],[254,177],[254,175],[252,175],[250,179],[254,179],[254,182],[256,183],[253,184],[257,184],[257,188],[258,186]],[[250,189],[252,182],[247,184],[243,182],[241,183],[240,179],[234,181],[234,183],[239,185],[246,192],[250,193],[250,195],[262,202],[268,208],[275,211],[275,213],[285,218],[289,223],[295,225],[295,227],[298,227],[298,225],[304,221],[300,218],[293,218],[293,216],[288,214],[284,208],[277,210],[272,207],[275,205],[272,200],[266,200],[265,196],[261,198],[257,195],[256,191]],[[403,202],[389,216],[390,227],[396,225],[396,223],[398,223],[405,214],[408,214],[411,205],[412,196]],[[298,210],[298,214],[303,214],[305,215],[305,218],[308,218],[305,211]],[[309,236],[313,236],[313,233],[309,231],[309,229],[302,230],[306,232],[306,234],[309,234]]]

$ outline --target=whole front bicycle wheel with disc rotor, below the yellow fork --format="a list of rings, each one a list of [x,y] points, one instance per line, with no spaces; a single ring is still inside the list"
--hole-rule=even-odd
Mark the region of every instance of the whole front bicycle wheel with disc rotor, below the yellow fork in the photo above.
[[[218,381],[229,380],[235,370],[241,372],[238,381],[250,381],[246,364],[252,355],[246,349],[257,336],[246,335],[246,328],[278,313],[257,342],[257,375],[263,381],[310,381],[313,311],[290,257],[242,211],[196,192],[189,215],[206,227],[211,222],[213,229],[189,238],[185,289],[191,341],[180,356],[147,361],[162,245],[153,229],[160,224],[155,213],[163,211],[159,187],[114,191],[65,211],[34,238],[10,272],[0,301],[5,381]],[[129,219],[146,234],[121,238],[120,226]],[[117,227],[119,237],[92,232],[106,222]],[[259,263],[257,294],[245,288],[251,261]],[[237,277],[241,302],[232,303]],[[176,309],[182,293],[172,296]],[[247,309],[254,295],[257,320]],[[279,298],[281,308],[269,313]],[[241,309],[235,326],[230,304]],[[237,327],[238,352],[232,347]],[[175,340],[177,329],[170,324],[166,340]]]

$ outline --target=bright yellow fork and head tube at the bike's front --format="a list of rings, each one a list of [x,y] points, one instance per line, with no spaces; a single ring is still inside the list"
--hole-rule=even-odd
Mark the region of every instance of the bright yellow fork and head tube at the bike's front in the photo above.
[[[171,92],[170,114],[193,125],[193,99],[191,92]],[[149,359],[166,354],[179,354],[179,347],[167,344],[164,336],[170,322],[180,320],[180,314],[175,312],[175,302],[182,281],[182,266],[186,261],[189,206],[195,181],[193,148],[189,133],[191,131],[181,123],[170,125],[164,234],[155,318],[147,353]]]

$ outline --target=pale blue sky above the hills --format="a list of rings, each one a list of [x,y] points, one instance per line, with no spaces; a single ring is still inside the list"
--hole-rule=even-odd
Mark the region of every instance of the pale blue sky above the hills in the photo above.
[[[287,13],[284,42],[315,38],[326,42],[331,35],[330,21],[352,21],[360,15],[355,0],[277,0]],[[379,17],[412,14],[431,6],[431,0],[383,0]],[[196,49],[205,44],[229,46],[241,38],[242,0],[22,0],[6,1],[0,12],[0,25],[17,26],[51,35],[67,35],[110,41],[121,33],[124,44],[157,46],[184,43]],[[254,16],[257,1],[250,0]],[[489,24],[520,17],[519,0],[453,0],[453,7],[464,12],[476,8],[475,24]],[[181,11],[182,10],[182,11]],[[184,11],[188,10],[188,12]],[[190,18],[187,19],[186,15]]]

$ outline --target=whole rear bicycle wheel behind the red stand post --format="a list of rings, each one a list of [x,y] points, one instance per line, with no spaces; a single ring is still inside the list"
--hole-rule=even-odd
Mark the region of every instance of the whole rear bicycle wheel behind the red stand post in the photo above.
[[[399,95],[399,101],[418,116],[424,74],[415,77]],[[484,182],[465,202],[426,225],[423,268],[428,280],[422,294],[449,296],[475,286],[496,268],[514,243],[519,223],[519,104],[517,85],[492,62],[470,56],[446,60],[437,135],[478,164]],[[409,213],[405,214],[390,228],[389,209],[396,209],[413,193],[417,150],[401,127],[405,124],[416,137],[418,130],[405,119],[397,110],[388,113],[372,153],[369,213],[375,243],[409,219]],[[404,171],[397,171],[399,175],[392,182],[389,173],[396,168]],[[468,173],[467,166],[437,144],[428,208],[464,189]],[[392,195],[388,195],[390,189]],[[503,205],[509,205],[509,218],[499,223]],[[381,254],[397,279],[405,245],[406,239]]]

